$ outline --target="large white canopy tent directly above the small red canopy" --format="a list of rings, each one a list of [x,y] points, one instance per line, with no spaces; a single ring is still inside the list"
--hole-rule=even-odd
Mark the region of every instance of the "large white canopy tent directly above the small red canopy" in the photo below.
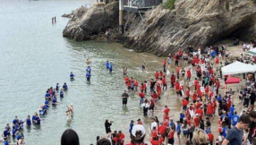
[[[256,65],[235,62],[221,68],[222,75],[238,74],[238,73],[254,73]]]

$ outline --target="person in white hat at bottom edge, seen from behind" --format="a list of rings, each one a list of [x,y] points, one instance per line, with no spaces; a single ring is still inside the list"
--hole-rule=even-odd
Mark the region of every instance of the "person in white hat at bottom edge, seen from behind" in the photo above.
[[[132,127],[132,139],[126,145],[143,145],[146,131],[143,125],[135,124]]]

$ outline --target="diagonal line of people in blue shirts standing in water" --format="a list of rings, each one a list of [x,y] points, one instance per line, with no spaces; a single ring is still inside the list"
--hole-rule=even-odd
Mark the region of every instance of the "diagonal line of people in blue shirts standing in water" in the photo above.
[[[71,73],[73,74],[73,73]],[[74,75],[71,75],[71,77],[74,77]],[[59,91],[60,90],[60,91]],[[64,82],[63,88],[60,89],[59,83],[56,83],[55,89],[51,87],[50,89],[47,89],[46,95],[45,95],[45,103],[40,106],[39,108],[39,115],[37,112],[32,115],[32,119],[30,119],[30,115],[27,115],[27,118],[22,121],[18,118],[17,115],[15,115],[15,118],[13,119],[13,126],[11,127],[10,124],[6,124],[5,130],[2,134],[4,137],[4,145],[9,145],[9,137],[13,137],[13,141],[15,141],[15,138],[17,139],[17,145],[22,145],[24,141],[24,135],[22,133],[23,131],[23,124],[25,123],[27,127],[30,127],[32,124],[40,125],[42,118],[40,115],[46,115],[47,110],[49,108],[49,105],[57,105],[57,93],[59,92],[60,98],[64,98],[64,90],[68,90],[68,86],[66,82]],[[12,135],[11,135],[12,133]]]

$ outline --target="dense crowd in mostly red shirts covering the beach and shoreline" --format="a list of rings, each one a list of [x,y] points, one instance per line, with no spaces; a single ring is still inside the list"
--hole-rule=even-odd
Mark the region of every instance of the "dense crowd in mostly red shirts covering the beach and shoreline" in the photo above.
[[[188,50],[191,50],[190,47]],[[244,142],[253,144],[256,136],[256,112],[253,111],[256,99],[254,73],[248,73],[247,78],[245,77],[246,84],[242,91],[227,89],[221,82],[226,81],[229,76],[222,75],[221,67],[231,63],[228,60],[231,54],[224,45],[221,49],[208,47],[206,50],[204,55],[201,54],[201,47],[197,52],[186,53],[178,50],[175,55],[168,55],[167,61],[163,60],[163,70],[156,71],[155,78],[150,79],[149,83],[129,78],[125,72],[124,83],[127,90],[124,90],[122,95],[123,106],[128,102],[128,92],[138,93],[139,103],[143,108],[142,115],[152,120],[149,132],[149,142],[152,145],[241,145]],[[166,64],[171,64],[172,59],[176,68],[175,72],[168,76]],[[237,61],[246,63],[244,59]],[[192,65],[186,66],[188,64]],[[185,67],[181,67],[182,65]],[[146,71],[145,62],[141,68],[142,72]],[[162,92],[167,88],[175,90],[176,98],[181,99],[182,110],[179,118],[170,118],[170,109],[166,106],[163,118],[158,120],[153,114],[154,107],[158,105],[158,100],[163,98]],[[149,98],[146,97],[147,93]],[[235,102],[236,98],[239,98],[239,103]],[[215,127],[212,127],[212,124]],[[109,128],[110,126],[111,124],[108,125]],[[137,124],[131,121],[129,132],[131,141],[127,145],[147,144],[144,141],[146,132],[141,119],[138,119]],[[107,140],[102,140],[112,145],[124,144],[123,135],[120,138],[116,131],[111,130],[107,132]]]

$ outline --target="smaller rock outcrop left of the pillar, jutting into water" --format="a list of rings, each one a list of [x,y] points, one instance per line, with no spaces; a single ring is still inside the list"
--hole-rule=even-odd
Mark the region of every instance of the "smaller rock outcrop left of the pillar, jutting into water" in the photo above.
[[[118,28],[118,2],[75,10],[63,36],[75,40],[92,39],[95,35],[105,34],[109,27]]]

